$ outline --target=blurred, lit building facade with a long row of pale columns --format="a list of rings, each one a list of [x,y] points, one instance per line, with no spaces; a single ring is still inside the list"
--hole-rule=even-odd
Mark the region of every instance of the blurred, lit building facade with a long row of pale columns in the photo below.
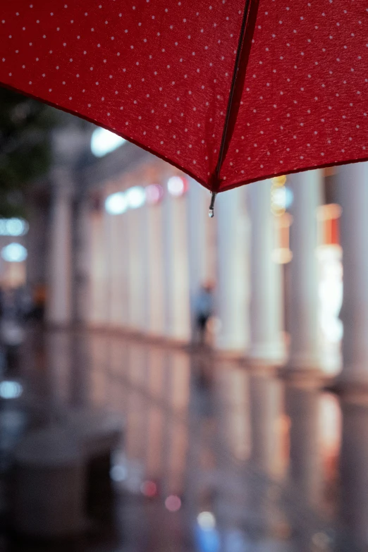
[[[211,282],[217,350],[367,378],[367,164],[231,190],[209,219],[208,190],[128,142],[94,157],[91,133],[59,132],[49,200],[34,201],[28,279],[44,278],[50,324],[190,343]]]

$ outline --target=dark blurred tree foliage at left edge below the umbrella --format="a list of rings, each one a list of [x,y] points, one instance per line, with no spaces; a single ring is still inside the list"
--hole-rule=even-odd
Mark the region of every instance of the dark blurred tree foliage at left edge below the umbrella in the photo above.
[[[0,88],[0,216],[25,216],[24,192],[51,163],[56,109]]]

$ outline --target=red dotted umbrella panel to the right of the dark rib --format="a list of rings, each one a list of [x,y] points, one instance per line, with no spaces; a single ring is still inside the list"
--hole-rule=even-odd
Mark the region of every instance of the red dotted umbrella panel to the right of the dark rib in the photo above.
[[[263,0],[221,190],[368,157],[364,0]]]

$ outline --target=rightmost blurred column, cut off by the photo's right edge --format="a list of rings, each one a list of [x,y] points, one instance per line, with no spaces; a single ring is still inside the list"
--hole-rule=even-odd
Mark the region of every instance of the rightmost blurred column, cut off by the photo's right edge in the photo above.
[[[368,383],[368,164],[336,174],[343,247],[343,371],[341,380]]]

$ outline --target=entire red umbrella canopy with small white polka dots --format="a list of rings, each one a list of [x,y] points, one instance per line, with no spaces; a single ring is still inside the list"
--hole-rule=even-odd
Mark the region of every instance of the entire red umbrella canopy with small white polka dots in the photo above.
[[[223,191],[367,159],[366,6],[12,0],[0,9],[0,82]]]

